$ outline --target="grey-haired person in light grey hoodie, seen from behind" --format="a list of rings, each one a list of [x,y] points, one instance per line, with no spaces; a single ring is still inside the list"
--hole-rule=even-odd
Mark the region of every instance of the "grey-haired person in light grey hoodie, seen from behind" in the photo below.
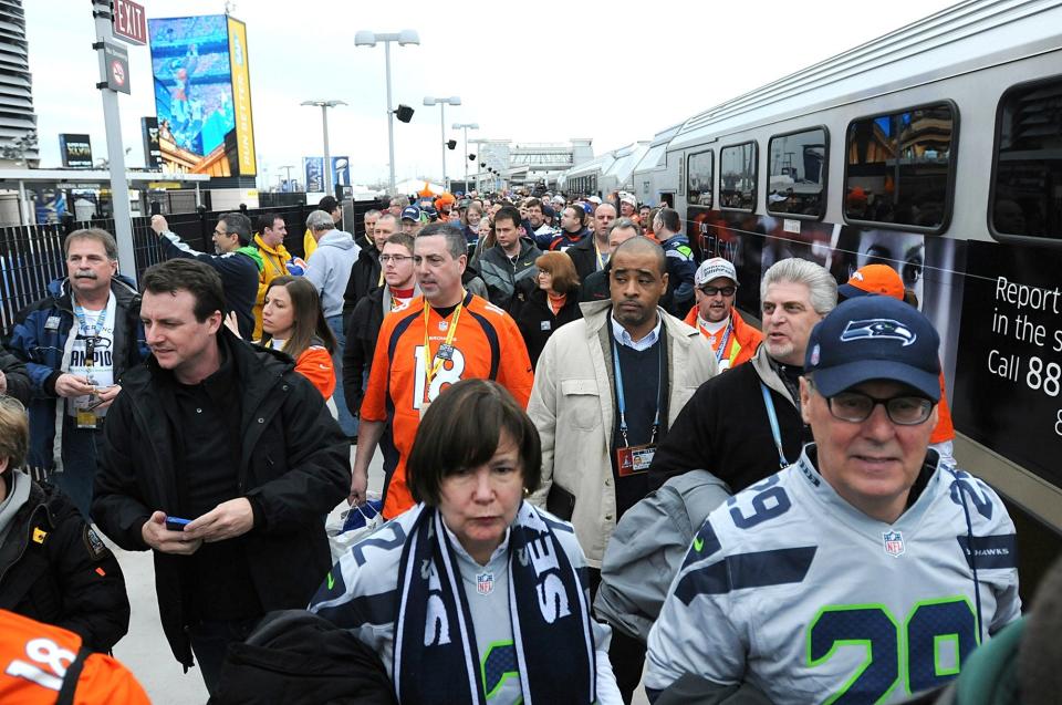
[[[306,218],[306,230],[317,242],[317,248],[306,260],[306,279],[321,294],[321,309],[329,322],[329,328],[335,333],[339,343],[333,352],[335,376],[343,379],[343,349],[346,346],[346,336],[343,333],[343,293],[351,279],[351,269],[357,261],[361,248],[354,242],[354,236],[339,230],[332,220],[331,214],[324,210],[314,210]],[[357,435],[357,422],[342,394],[335,395],[335,405],[340,412],[340,426],[348,437]]]

